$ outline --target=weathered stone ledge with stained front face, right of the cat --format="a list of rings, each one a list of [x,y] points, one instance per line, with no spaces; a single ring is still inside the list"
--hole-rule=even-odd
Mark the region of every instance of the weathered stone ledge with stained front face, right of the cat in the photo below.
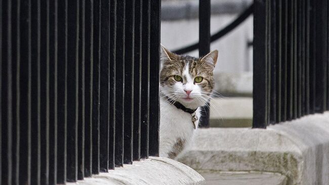
[[[200,129],[179,161],[193,169],[266,171],[287,184],[329,184],[329,113],[268,129]]]

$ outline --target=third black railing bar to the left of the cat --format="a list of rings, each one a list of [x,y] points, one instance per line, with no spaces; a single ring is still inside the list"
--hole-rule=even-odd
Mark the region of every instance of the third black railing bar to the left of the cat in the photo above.
[[[135,0],[133,159],[138,161],[141,158],[142,3],[142,0]]]

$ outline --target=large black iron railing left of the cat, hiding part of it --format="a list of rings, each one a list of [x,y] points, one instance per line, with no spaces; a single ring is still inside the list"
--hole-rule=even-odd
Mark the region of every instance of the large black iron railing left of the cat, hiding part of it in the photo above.
[[[160,0],[0,1],[1,184],[158,155],[159,13]]]

